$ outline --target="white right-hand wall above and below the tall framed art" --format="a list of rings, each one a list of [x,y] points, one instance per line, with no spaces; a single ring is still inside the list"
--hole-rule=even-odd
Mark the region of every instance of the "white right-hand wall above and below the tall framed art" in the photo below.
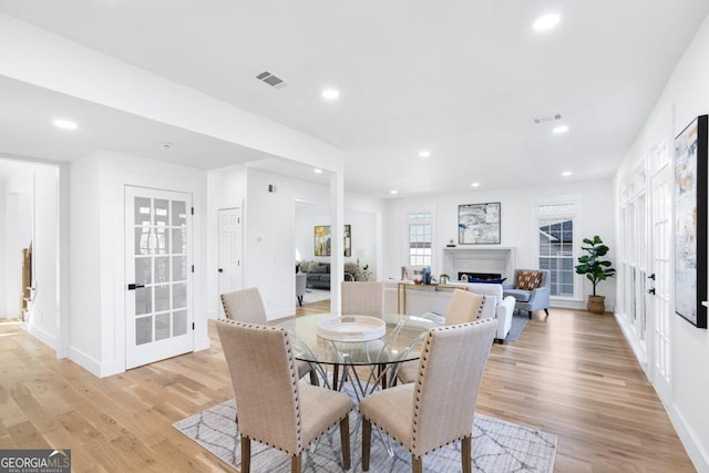
[[[635,163],[674,137],[696,116],[709,113],[709,19],[675,69],[641,132],[629,148],[618,182]],[[616,189],[619,194],[619,188]],[[619,206],[619,202],[617,204]],[[617,224],[619,227],[619,223]],[[670,285],[671,287],[671,285]],[[623,318],[618,318],[623,323]],[[625,331],[626,335],[629,332]],[[679,316],[670,319],[672,385],[670,399],[662,399],[677,432],[698,471],[709,471],[709,332],[697,329]]]

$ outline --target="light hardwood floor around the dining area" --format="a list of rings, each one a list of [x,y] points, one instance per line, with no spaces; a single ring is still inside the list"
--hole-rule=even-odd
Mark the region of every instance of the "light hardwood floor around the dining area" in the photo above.
[[[614,318],[543,316],[493,346],[477,411],[558,435],[556,472],[693,472]],[[212,322],[209,336],[209,350],[96,379],[0,321],[0,449],[71,449],[74,472],[230,471],[172,428],[233,397]]]

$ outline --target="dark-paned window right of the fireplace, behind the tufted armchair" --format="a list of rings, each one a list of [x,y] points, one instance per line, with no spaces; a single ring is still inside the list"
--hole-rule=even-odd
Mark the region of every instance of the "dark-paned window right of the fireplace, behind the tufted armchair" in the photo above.
[[[551,296],[574,297],[574,216],[569,214],[575,210],[573,203],[537,207],[540,268],[549,270]]]

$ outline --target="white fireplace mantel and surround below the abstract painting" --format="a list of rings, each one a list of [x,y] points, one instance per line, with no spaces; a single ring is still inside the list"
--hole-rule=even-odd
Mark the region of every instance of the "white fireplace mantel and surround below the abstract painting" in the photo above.
[[[456,246],[443,248],[443,273],[456,277],[459,273],[500,273],[503,278],[514,274],[512,246]]]

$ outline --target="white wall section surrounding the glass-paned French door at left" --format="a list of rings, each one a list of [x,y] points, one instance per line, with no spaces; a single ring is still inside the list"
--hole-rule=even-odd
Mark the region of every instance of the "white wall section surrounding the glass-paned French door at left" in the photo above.
[[[124,191],[191,193],[195,350],[209,346],[206,317],[206,172],[96,152],[71,165],[72,360],[99,377],[125,370]]]

